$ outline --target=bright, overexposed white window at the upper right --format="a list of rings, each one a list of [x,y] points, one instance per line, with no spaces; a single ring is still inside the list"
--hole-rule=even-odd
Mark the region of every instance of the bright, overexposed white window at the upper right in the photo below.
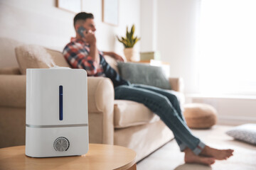
[[[203,94],[256,95],[256,0],[201,0]]]

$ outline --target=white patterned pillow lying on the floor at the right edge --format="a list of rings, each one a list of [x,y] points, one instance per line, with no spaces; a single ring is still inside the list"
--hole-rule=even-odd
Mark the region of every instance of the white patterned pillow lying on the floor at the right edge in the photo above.
[[[256,124],[240,125],[226,132],[236,140],[242,140],[252,145],[256,145]]]

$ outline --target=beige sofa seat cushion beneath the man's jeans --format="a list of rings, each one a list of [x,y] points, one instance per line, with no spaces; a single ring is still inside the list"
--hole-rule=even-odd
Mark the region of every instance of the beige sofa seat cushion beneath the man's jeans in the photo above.
[[[159,116],[135,101],[114,101],[114,128],[127,128],[134,125],[154,123]]]

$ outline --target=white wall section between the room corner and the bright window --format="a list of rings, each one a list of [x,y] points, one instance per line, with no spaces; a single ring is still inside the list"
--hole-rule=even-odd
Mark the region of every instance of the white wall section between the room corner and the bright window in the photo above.
[[[170,76],[183,77],[185,93],[196,93],[196,33],[201,0],[158,0],[157,50]]]

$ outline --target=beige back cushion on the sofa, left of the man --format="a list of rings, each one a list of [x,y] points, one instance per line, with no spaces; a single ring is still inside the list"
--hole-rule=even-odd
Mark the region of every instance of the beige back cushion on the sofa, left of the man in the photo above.
[[[21,45],[15,48],[15,52],[22,74],[26,74],[28,68],[69,67],[61,52],[40,45]]]

